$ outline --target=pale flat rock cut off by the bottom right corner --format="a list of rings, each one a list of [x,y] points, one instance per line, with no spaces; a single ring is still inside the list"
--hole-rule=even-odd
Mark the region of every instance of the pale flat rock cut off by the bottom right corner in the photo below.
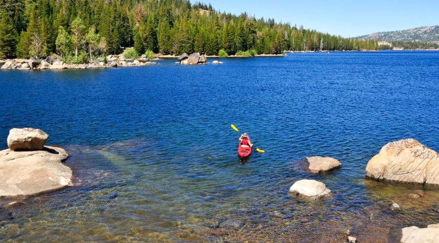
[[[434,243],[439,242],[439,228],[427,227],[419,228],[417,226],[410,226],[402,228],[401,239],[402,243]]]

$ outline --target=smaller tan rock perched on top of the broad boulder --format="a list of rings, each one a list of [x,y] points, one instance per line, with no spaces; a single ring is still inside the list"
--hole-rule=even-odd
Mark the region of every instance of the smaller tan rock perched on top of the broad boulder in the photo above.
[[[7,139],[8,148],[11,150],[42,149],[49,135],[35,128],[12,128]]]

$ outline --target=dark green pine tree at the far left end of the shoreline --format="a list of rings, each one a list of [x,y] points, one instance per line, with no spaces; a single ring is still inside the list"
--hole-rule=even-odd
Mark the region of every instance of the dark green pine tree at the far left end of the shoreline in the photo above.
[[[12,18],[6,12],[0,18],[0,58],[15,56],[17,45],[17,31],[12,23]]]

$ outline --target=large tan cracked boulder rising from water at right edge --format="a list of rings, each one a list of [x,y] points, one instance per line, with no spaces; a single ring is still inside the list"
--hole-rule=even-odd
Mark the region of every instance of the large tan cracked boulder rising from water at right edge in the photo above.
[[[389,142],[367,163],[366,177],[439,185],[439,155],[415,139]]]

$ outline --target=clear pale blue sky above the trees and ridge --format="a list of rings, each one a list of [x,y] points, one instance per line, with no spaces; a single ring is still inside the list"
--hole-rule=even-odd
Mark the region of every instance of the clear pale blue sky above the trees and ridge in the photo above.
[[[439,25],[439,0],[191,0],[343,37]]]

